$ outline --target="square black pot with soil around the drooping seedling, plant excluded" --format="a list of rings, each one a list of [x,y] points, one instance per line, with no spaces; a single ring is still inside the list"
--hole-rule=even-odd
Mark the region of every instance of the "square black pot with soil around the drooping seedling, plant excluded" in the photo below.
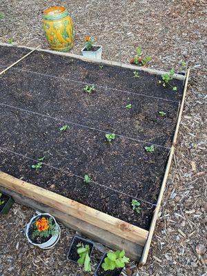
[[[92,241],[90,241],[90,239],[83,239],[82,237],[79,236],[74,236],[72,239],[72,243],[70,245],[70,248],[68,250],[68,255],[67,255],[67,259],[77,263],[77,260],[79,259],[79,255],[77,253],[77,244],[83,244],[83,246],[85,246],[86,244],[89,245],[90,248],[90,254],[89,257],[92,254],[92,249],[94,247],[94,243]]]

